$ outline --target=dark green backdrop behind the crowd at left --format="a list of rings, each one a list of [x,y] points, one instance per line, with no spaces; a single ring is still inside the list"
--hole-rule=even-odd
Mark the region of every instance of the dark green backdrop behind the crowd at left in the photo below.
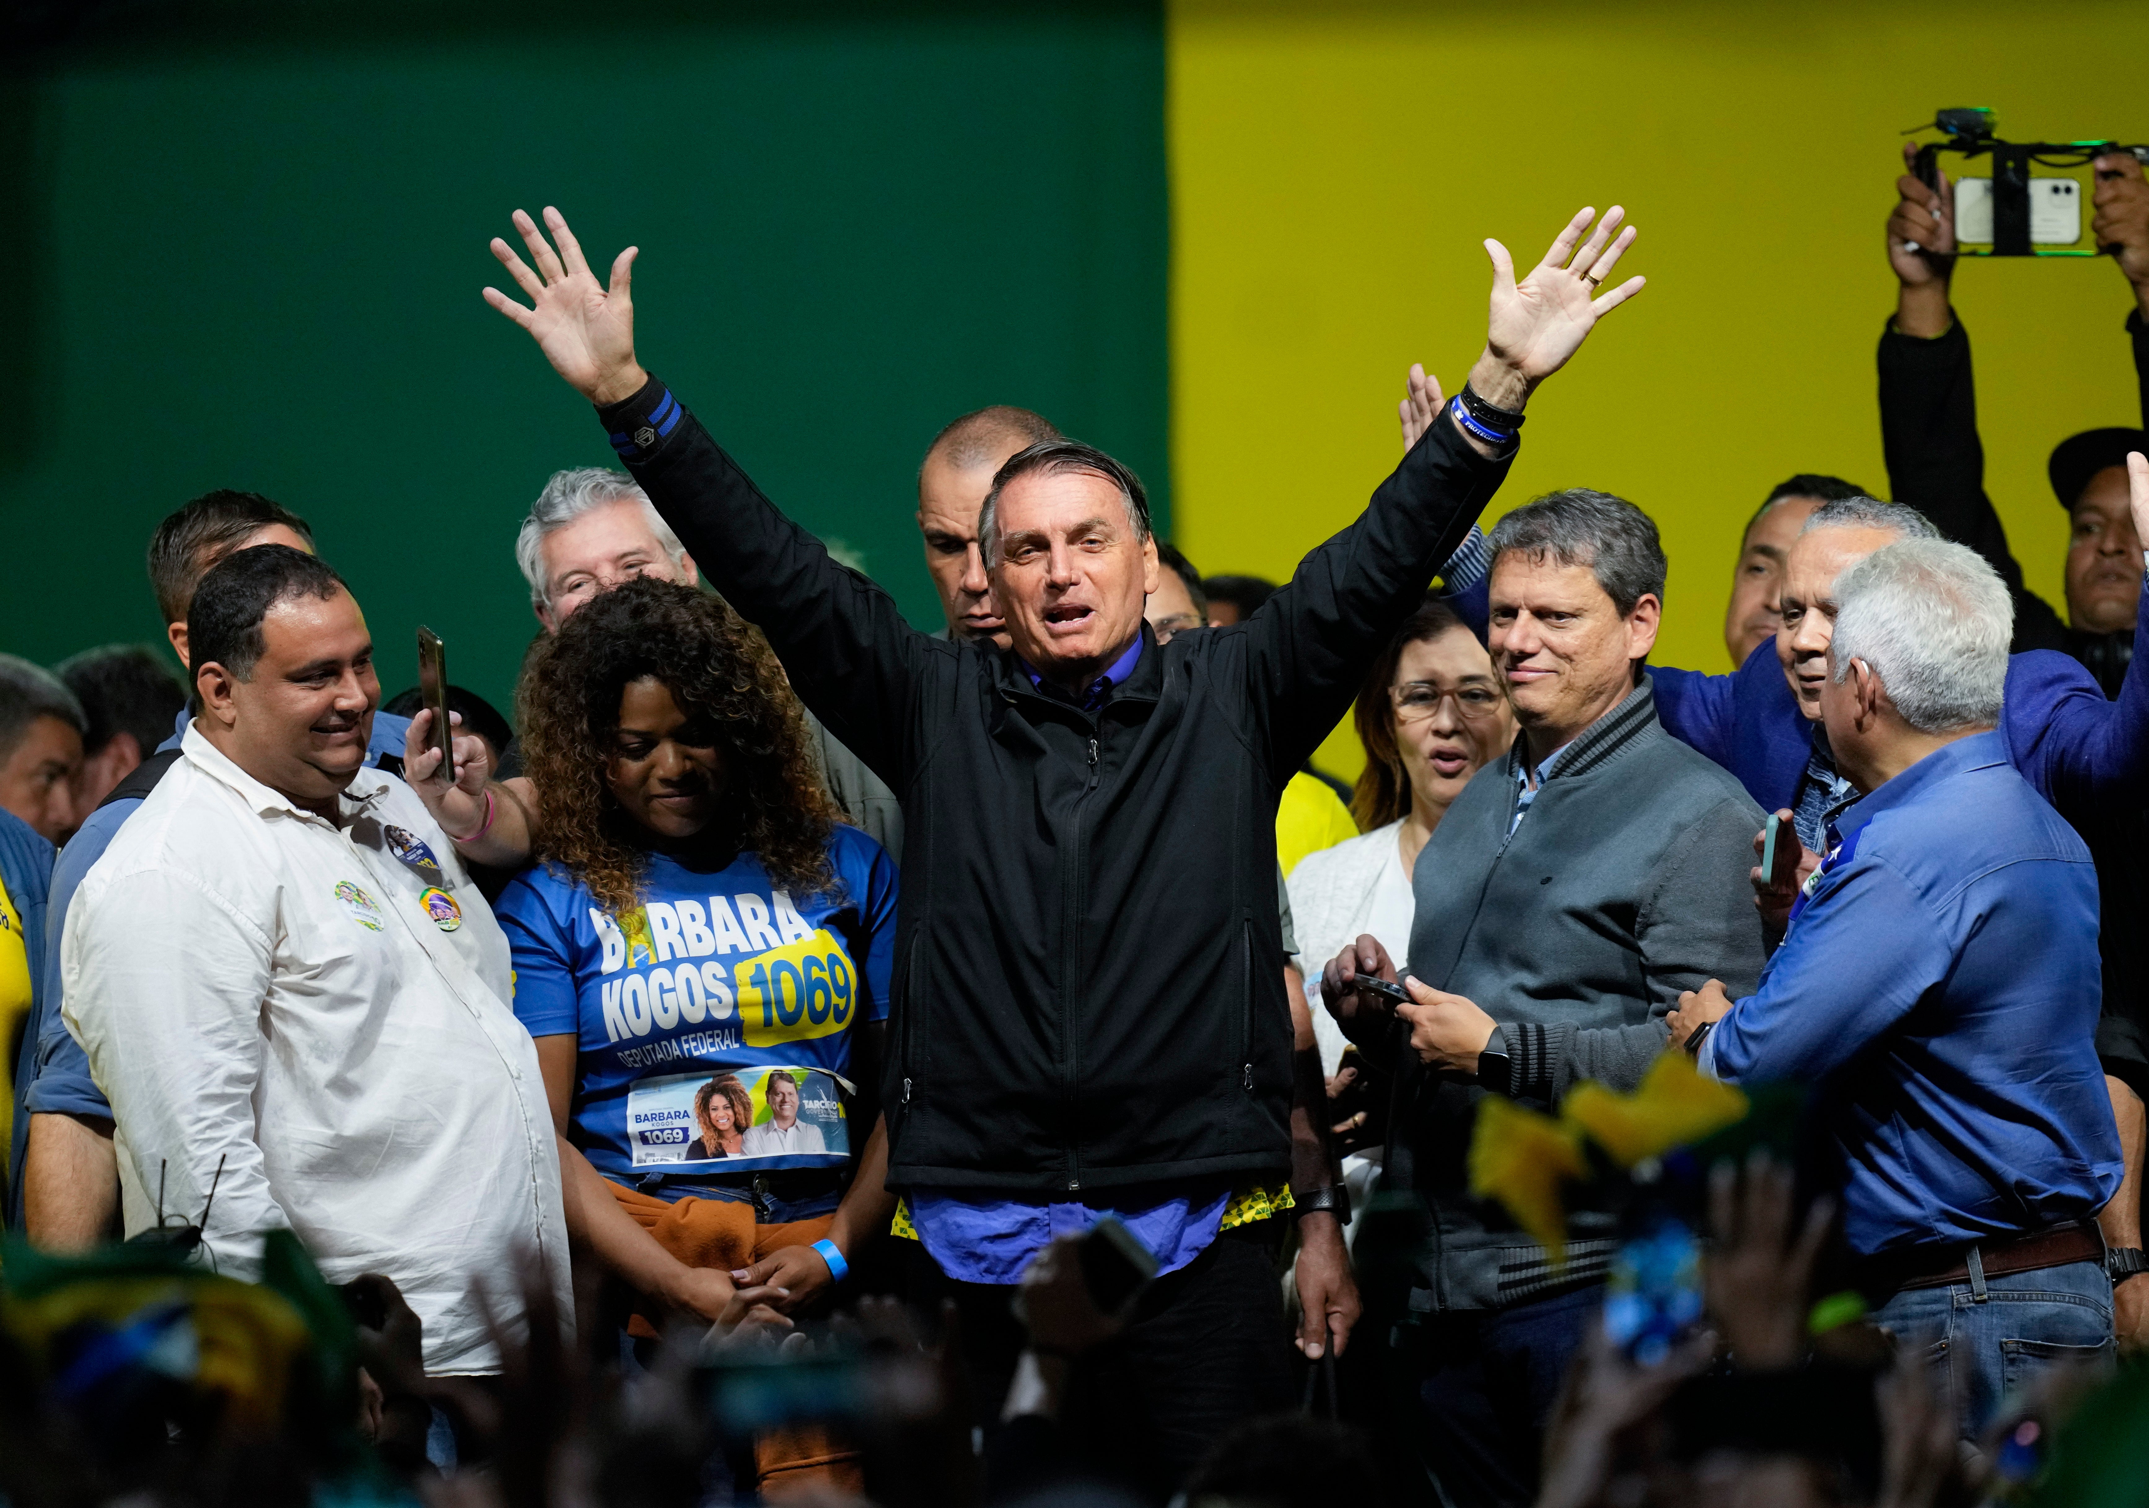
[[[0,649],[161,640],[155,522],[303,513],[380,644],[503,711],[514,533],[610,464],[479,299],[507,213],[630,241],[643,361],[913,623],[913,475],[993,402],[1167,503],[1163,26],[1152,4],[118,6],[17,56],[0,120]],[[1160,520],[1163,522],[1163,520]]]

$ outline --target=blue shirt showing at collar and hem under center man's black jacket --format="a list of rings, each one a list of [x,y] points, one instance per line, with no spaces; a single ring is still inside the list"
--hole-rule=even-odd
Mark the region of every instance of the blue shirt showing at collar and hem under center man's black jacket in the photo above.
[[[1094,713],[1105,705],[1111,687],[1135,675],[1143,638],[1137,634],[1128,651],[1090,683],[1090,692],[1081,700],[1083,711]],[[1049,687],[1027,659],[1021,666],[1040,692],[1072,700]],[[1053,1237],[1079,1235],[1107,1214],[1120,1216],[1128,1231],[1156,1255],[1160,1274],[1176,1272],[1216,1239],[1229,1201],[1229,1190],[1199,1194],[1126,1190],[1120,1201],[1102,1199],[1096,1203],[948,1188],[909,1190],[911,1224],[918,1229],[918,1239],[924,1242],[941,1272],[958,1282],[1014,1282],[1023,1276],[1023,1267],[1051,1246]]]

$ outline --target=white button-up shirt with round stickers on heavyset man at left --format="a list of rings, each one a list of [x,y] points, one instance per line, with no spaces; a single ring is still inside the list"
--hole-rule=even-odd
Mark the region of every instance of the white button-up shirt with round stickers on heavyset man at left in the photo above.
[[[187,728],[183,758],[82,881],[62,1018],[112,1100],[127,1233],[193,1222],[251,1278],[292,1229],[331,1282],[395,1280],[428,1373],[494,1373],[479,1289],[524,1261],[574,1315],[559,1149],[507,939],[402,780],[342,823]],[[430,868],[428,868],[430,866]],[[217,1164],[223,1164],[221,1179]]]

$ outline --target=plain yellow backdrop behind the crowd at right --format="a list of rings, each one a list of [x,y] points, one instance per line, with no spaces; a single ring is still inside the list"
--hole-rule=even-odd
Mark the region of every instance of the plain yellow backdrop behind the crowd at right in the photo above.
[[[1650,286],[1530,406],[1496,513],[1562,485],[1648,509],[1657,659],[1728,668],[1739,531],[1799,470],[1883,490],[1874,342],[1902,129],[2149,142],[2149,6],[1227,4],[1171,0],[1173,498],[1203,571],[1285,578],[1399,451],[1403,372],[1457,385],[1496,236],[1534,262],[1627,206]],[[1988,490],[2059,604],[2050,447],[2140,423],[2104,260],[1964,264]],[[1362,763],[1345,730],[1322,760]]]

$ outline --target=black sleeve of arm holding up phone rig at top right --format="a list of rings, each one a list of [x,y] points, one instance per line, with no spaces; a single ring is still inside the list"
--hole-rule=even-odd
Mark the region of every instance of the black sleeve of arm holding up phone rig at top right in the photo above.
[[[1934,339],[1902,335],[1893,320],[1880,333],[1880,445],[1895,501],[1930,518],[1945,537],[1977,550],[2007,582],[2016,610],[2014,647],[2065,651],[2067,623],[2022,584],[2022,567],[2007,550],[2007,528],[1986,496],[1971,335],[1960,318]]]

